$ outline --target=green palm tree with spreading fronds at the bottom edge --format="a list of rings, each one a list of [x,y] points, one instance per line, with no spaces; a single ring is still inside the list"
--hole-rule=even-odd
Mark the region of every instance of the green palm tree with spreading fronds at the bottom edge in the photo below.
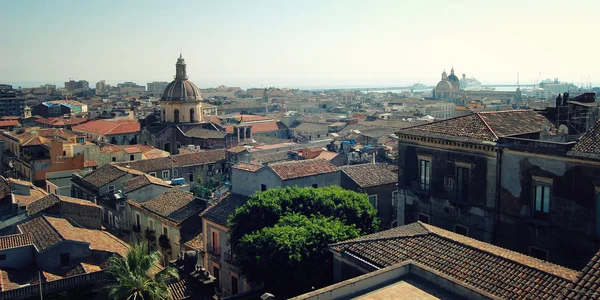
[[[113,277],[107,286],[109,297],[127,300],[171,299],[165,280],[169,277],[179,278],[179,274],[172,267],[154,273],[161,261],[161,254],[155,251],[148,253],[144,244],[131,248],[124,258],[119,255],[111,257],[106,269]]]

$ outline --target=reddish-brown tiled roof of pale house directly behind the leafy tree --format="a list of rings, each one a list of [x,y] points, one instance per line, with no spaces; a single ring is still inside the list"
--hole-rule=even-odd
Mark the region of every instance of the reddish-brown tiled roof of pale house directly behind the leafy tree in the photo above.
[[[339,170],[328,160],[320,158],[274,163],[268,167],[282,180],[333,173]]]

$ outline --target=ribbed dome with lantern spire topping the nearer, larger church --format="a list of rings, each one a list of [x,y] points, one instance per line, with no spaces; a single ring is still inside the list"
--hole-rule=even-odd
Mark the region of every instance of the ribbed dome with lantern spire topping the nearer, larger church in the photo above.
[[[181,55],[175,64],[176,74],[173,80],[165,89],[161,101],[200,101],[202,94],[198,87],[188,80],[186,74],[185,60]]]

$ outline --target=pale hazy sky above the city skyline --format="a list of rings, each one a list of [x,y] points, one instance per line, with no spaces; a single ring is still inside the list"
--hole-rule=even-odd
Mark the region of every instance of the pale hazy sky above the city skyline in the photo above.
[[[600,0],[2,1],[0,82],[600,82]],[[587,45],[584,45],[587,44]],[[61,84],[62,86],[62,84]]]

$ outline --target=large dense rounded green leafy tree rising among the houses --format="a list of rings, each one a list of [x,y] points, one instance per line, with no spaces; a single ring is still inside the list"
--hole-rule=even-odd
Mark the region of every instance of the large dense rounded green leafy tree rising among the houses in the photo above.
[[[229,219],[229,243],[244,276],[277,296],[331,282],[331,243],[373,233],[365,194],[337,186],[287,187],[252,196]]]

